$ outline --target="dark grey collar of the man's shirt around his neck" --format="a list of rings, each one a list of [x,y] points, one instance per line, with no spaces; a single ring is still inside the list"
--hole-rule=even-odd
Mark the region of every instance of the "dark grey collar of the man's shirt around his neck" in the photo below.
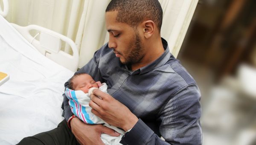
[[[157,58],[155,61],[146,65],[145,67],[141,67],[140,69],[135,70],[134,72],[132,72],[132,75],[148,73],[149,71],[154,70],[157,67],[160,67],[160,66],[163,66],[164,64],[166,64],[166,62],[169,60],[169,58],[171,56],[171,53],[169,51],[167,41],[163,38],[161,38],[161,39],[162,39],[162,43],[163,43],[163,48],[165,49],[163,54],[159,58]]]

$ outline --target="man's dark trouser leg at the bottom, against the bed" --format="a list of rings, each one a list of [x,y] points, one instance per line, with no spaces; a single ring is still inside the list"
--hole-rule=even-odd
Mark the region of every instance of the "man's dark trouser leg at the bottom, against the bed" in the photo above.
[[[57,128],[25,137],[17,145],[79,145],[79,143],[64,119]]]

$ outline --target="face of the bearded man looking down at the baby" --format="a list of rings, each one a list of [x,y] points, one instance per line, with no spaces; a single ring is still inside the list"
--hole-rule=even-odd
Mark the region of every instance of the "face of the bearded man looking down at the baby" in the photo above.
[[[140,62],[144,48],[137,29],[126,23],[116,22],[117,11],[106,12],[106,28],[109,32],[108,47],[113,48],[122,64],[131,65]]]

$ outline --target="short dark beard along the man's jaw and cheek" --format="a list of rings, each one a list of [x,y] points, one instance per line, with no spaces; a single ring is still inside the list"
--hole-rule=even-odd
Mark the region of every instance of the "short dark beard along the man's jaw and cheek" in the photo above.
[[[122,64],[132,65],[140,62],[140,60],[143,58],[143,56],[141,56],[143,52],[143,47],[138,31],[135,33],[134,43],[131,42],[128,48],[130,48],[131,51],[129,51],[130,53],[128,54],[127,58],[125,58],[125,62],[122,62]]]

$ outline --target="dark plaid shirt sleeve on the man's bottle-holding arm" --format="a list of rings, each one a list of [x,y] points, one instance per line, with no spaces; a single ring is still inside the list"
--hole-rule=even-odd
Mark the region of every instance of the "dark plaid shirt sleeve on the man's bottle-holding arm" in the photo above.
[[[125,145],[201,145],[201,94],[196,84],[178,91],[159,112],[163,141],[141,119],[120,143]]]

